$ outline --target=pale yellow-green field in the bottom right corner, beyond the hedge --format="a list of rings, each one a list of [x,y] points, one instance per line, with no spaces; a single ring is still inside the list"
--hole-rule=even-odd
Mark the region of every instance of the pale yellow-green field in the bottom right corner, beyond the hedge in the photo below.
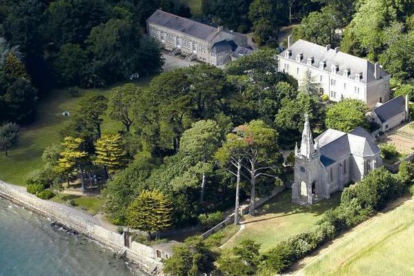
[[[305,275],[414,275],[414,202],[355,228],[304,267]]]

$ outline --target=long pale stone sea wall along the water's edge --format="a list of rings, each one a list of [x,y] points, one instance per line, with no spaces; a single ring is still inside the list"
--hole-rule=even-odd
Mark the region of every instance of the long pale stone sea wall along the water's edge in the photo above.
[[[62,204],[39,199],[23,189],[3,181],[0,181],[0,197],[24,206],[43,217],[48,217],[58,224],[108,246],[137,264],[145,273],[161,275],[162,264],[158,259],[155,259],[152,247],[137,242],[131,242],[129,248],[124,246],[124,235],[102,228],[89,215]]]

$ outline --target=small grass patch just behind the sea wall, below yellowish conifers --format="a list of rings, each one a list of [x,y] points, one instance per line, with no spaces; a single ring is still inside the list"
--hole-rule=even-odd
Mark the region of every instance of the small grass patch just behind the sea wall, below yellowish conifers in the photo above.
[[[105,199],[87,195],[60,195],[60,198],[53,197],[51,200],[61,204],[66,204],[66,201],[72,200],[75,203],[75,208],[86,209],[90,215],[96,215],[105,204]]]

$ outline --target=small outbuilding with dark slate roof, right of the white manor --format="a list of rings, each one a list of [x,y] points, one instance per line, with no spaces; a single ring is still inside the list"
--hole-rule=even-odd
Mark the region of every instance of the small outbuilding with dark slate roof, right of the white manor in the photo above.
[[[379,103],[371,115],[383,132],[399,126],[408,119],[408,96],[398,96],[386,103]]]

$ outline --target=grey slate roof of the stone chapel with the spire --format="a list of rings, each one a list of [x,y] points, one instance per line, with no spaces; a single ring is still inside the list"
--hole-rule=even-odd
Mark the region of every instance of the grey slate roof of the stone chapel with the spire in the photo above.
[[[374,137],[360,127],[349,133],[328,129],[316,137],[316,144],[321,152],[320,161],[326,167],[348,155],[372,157],[380,153]]]

